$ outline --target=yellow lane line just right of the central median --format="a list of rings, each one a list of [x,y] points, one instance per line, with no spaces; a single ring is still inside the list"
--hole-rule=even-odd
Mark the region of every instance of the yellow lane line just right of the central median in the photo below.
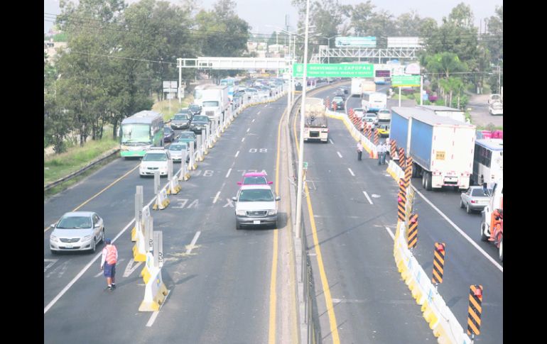
[[[294,132],[294,140],[296,142],[296,150],[297,150],[297,153],[300,154],[300,146],[298,145],[298,136],[296,135],[296,117],[297,116],[295,115],[294,121],[293,121],[293,132]],[[304,188],[305,188],[305,194],[308,195],[308,197],[306,197],[306,201],[308,203],[308,216],[310,217],[311,229],[313,233],[313,245],[315,246],[315,258],[317,259],[317,262],[318,262],[319,274],[321,277],[321,284],[323,284],[323,294],[325,295],[325,304],[327,306],[327,314],[329,316],[330,333],[332,333],[332,343],[340,344],[340,336],[338,335],[338,326],[336,324],[334,306],[332,304],[332,297],[330,296],[330,288],[329,288],[329,283],[327,280],[327,274],[325,273],[325,267],[323,265],[323,255],[321,255],[321,248],[319,245],[317,228],[315,227],[315,219],[313,218],[313,209],[311,206],[310,191],[308,189],[308,185],[305,184]],[[305,259],[305,257],[302,257],[302,259]]]

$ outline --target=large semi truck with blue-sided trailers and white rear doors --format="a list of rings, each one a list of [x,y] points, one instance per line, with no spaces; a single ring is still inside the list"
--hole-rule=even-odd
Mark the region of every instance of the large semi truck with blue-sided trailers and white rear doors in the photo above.
[[[469,188],[475,126],[428,109],[393,107],[389,138],[412,157],[412,177],[422,177],[426,190]]]

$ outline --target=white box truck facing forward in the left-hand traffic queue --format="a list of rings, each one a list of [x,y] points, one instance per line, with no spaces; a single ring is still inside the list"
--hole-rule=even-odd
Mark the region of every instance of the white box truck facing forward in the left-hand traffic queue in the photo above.
[[[194,103],[202,106],[202,114],[210,121],[220,124],[229,108],[228,87],[225,85],[202,84],[194,89]]]

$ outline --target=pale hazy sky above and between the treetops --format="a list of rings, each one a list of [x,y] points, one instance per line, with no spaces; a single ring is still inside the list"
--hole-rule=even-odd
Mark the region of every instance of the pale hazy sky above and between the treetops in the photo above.
[[[178,0],[168,0],[173,4],[178,4]],[[217,0],[197,0],[197,4],[200,4],[203,9],[211,9],[212,4],[215,4]],[[136,0],[126,0],[127,3],[132,4],[137,2]],[[252,27],[252,32],[256,33],[271,33],[276,30],[274,26],[278,28],[285,28],[285,16],[288,14],[288,24],[291,26],[291,30],[296,28],[298,22],[298,12],[296,8],[291,5],[291,0],[236,0],[237,15],[247,21]],[[367,2],[366,0],[339,0],[340,4],[359,4]],[[484,28],[484,18],[494,16],[494,10],[496,6],[502,6],[502,0],[372,0],[372,4],[376,6],[375,10],[384,9],[399,16],[402,13],[416,10],[421,18],[430,17],[438,21],[442,20],[443,16],[448,16],[450,11],[463,2],[471,6],[473,16],[475,16],[475,26],[480,25],[482,19],[482,27]],[[58,0],[44,0],[44,12],[45,13],[60,13]],[[53,23],[45,21],[44,19],[44,32],[47,32]]]

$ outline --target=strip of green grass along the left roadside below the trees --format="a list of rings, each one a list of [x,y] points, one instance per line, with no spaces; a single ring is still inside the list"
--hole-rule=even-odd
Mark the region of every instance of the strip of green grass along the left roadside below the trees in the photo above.
[[[84,147],[72,147],[59,155],[44,158],[44,185],[80,170],[107,150],[117,148],[119,142],[112,140],[112,129],[105,131],[102,140],[88,141]]]

